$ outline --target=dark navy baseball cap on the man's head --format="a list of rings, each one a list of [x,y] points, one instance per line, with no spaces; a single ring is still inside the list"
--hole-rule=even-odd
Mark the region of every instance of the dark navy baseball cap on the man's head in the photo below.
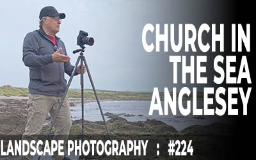
[[[53,6],[45,6],[42,8],[39,14],[39,19],[42,19],[43,17],[56,17],[60,16],[61,19],[65,19],[66,15],[65,13],[58,13],[58,11]]]

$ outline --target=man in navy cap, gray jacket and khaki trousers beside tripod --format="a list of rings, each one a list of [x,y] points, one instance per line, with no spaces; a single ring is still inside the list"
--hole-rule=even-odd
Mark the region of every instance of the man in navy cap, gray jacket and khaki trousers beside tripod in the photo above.
[[[74,70],[64,43],[56,36],[60,31],[61,19],[65,17],[65,13],[58,13],[53,6],[42,8],[39,15],[40,29],[28,33],[24,38],[22,60],[29,67],[30,81],[28,122],[22,140],[36,140],[48,113],[52,119],[54,118],[67,87],[64,74],[71,76]],[[76,75],[80,73],[81,67],[78,66]],[[61,106],[54,127],[54,140],[67,141],[71,127],[67,97]],[[33,159],[33,157],[23,156],[20,159]],[[54,155],[52,159],[63,159],[63,156]]]

